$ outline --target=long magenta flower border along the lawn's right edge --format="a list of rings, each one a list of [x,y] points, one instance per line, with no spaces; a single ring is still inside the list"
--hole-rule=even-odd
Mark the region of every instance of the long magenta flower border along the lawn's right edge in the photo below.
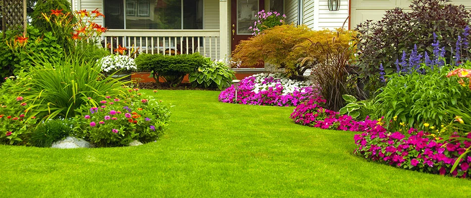
[[[291,118],[295,123],[342,131],[362,132],[354,136],[357,146],[354,153],[366,159],[401,167],[441,175],[466,178],[471,169],[471,156],[462,158],[457,168],[451,172],[458,157],[471,146],[470,141],[462,140],[457,134],[450,140],[437,138],[434,134],[410,128],[407,133],[388,132],[384,121],[355,121],[349,115],[340,115],[322,107],[324,99],[311,98],[297,105]],[[467,138],[471,138],[469,133]]]

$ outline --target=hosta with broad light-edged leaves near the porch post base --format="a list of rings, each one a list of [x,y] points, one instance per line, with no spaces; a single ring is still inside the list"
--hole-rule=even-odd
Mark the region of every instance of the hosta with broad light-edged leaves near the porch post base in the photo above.
[[[205,88],[217,87],[222,90],[231,86],[235,74],[226,63],[212,61],[208,57],[205,58],[203,66],[198,67],[198,71],[190,73],[188,79],[194,87],[203,85]]]

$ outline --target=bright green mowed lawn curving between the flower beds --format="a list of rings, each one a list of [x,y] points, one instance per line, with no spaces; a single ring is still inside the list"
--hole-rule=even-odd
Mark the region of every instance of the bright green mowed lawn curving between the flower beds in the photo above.
[[[153,94],[151,91],[145,91]],[[353,132],[296,125],[293,107],[218,102],[219,92],[159,91],[176,105],[139,147],[0,146],[0,197],[469,197],[471,181],[353,155]]]

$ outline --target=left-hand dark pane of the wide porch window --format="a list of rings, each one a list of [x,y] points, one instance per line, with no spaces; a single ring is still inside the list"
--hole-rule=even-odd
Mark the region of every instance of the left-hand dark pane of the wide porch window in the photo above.
[[[105,26],[108,29],[124,29],[122,0],[104,0]]]

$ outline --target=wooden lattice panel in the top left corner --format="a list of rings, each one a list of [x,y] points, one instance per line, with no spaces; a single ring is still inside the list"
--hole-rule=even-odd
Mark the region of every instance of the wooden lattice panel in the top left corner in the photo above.
[[[6,30],[22,30],[24,28],[23,0],[3,0],[3,32]]]

